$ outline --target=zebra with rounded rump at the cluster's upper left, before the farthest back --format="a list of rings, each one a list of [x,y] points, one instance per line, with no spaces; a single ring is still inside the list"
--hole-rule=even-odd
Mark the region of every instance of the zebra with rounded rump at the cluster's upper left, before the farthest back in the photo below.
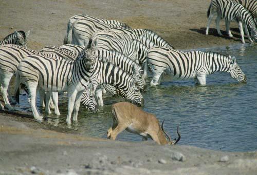
[[[67,35],[63,44],[76,44],[83,46],[84,40],[89,38],[97,31],[107,29],[109,27],[121,27],[116,24],[104,24],[87,18],[75,21],[70,27],[67,26]]]

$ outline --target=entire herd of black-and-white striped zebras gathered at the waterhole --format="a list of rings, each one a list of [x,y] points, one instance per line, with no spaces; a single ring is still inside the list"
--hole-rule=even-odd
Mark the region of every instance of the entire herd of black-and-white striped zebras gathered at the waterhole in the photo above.
[[[252,1],[253,5],[247,2],[249,10],[256,14],[256,1]],[[246,31],[250,29],[249,40],[252,38],[250,41],[256,42],[254,18],[242,8],[230,0],[212,0],[208,27],[213,14],[217,13],[216,22],[225,18],[230,35],[229,21],[236,20]],[[220,33],[218,27],[217,30]],[[206,76],[218,71],[230,73],[238,82],[246,82],[246,75],[235,57],[214,52],[178,51],[155,32],[131,29],[116,20],[72,16],[64,45],[48,46],[40,51],[26,48],[28,34],[15,31],[0,46],[0,90],[5,103],[5,106],[1,103],[0,109],[13,110],[8,100],[8,86],[15,75],[15,100],[19,102],[20,89],[24,88],[38,122],[42,122],[43,116],[35,103],[37,93],[46,114],[50,114],[50,107],[53,107],[54,113],[60,115],[58,93],[67,92],[66,123],[70,124],[72,112],[72,120],[78,121],[80,103],[92,111],[103,106],[102,95],[106,91],[143,106],[141,92],[146,90],[145,79],[150,72],[153,75],[151,86],[160,84],[163,74],[176,79],[194,78],[195,83],[205,85]]]

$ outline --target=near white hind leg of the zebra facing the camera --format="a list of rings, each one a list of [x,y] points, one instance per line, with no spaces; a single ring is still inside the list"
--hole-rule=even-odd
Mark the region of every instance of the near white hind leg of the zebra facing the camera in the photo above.
[[[36,107],[36,87],[38,86],[38,82],[29,82],[27,85],[29,94],[28,94],[28,102],[31,106],[31,110],[34,115],[34,119],[41,123],[43,121],[43,116],[40,114],[38,108]]]

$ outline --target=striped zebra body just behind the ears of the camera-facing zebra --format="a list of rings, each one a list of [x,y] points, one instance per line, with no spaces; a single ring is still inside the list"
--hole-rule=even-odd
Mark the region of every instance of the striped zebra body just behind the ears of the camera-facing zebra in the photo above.
[[[113,38],[105,35],[94,37],[92,41],[92,45],[98,50],[116,50],[139,64],[143,64],[149,49],[137,40]]]

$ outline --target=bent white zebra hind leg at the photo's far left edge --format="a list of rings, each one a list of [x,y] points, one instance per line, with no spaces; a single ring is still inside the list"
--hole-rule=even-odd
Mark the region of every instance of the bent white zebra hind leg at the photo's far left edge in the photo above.
[[[1,86],[0,86],[0,91],[2,93],[2,96],[3,96],[3,99],[4,99],[4,102],[5,102],[5,107],[8,109],[8,110],[13,110],[13,107],[10,105],[10,102],[8,100],[8,86],[9,86],[9,83],[11,81],[11,78],[12,78],[12,73],[5,73],[5,76],[1,77]]]

